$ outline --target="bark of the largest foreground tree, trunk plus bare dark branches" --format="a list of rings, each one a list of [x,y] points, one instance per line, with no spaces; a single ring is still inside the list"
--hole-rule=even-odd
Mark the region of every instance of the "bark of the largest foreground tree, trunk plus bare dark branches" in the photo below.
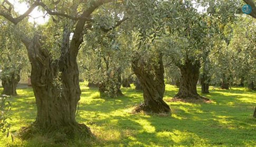
[[[24,133],[29,132],[29,130],[33,131],[32,128],[36,127],[46,133],[53,133],[55,130],[60,132],[62,130],[63,133],[69,136],[74,136],[76,132],[79,135],[85,135],[84,133],[91,135],[91,131],[86,125],[78,124],[75,121],[77,104],[81,95],[76,57],[79,47],[83,42],[83,36],[86,33],[85,29],[88,29],[85,27],[85,23],[92,21],[91,14],[98,7],[109,2],[113,1],[92,1],[89,7],[82,11],[81,15],[77,15],[77,3],[71,6],[70,9],[74,11],[72,11],[71,15],[68,15],[51,11],[41,1],[35,1],[24,14],[16,18],[12,17],[7,11],[0,11],[0,16],[5,17],[15,25],[25,17],[28,17],[37,6],[41,6],[49,15],[62,16],[66,17],[66,20],[69,20],[65,20],[66,24],[63,27],[62,44],[60,45],[61,56],[57,60],[53,60],[50,52],[44,48],[46,46],[43,44],[43,41],[45,41],[44,37],[34,35],[33,38],[30,38],[23,32],[18,31],[21,41],[27,48],[28,57],[32,66],[31,84],[37,105],[36,120],[30,127],[24,129]],[[84,5],[87,4],[88,2],[84,1]],[[117,22],[116,26],[111,27],[111,29],[105,29],[104,32],[114,29],[125,20],[127,18]],[[57,25],[62,27],[62,24]],[[73,37],[70,40],[71,32],[73,32]]]

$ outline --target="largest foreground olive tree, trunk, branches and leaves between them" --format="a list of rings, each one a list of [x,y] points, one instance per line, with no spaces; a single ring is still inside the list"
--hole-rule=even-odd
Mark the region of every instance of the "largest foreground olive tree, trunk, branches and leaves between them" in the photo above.
[[[94,14],[104,5],[126,5],[112,0],[47,1],[25,0],[28,10],[21,15],[13,12],[12,5],[2,3],[0,16],[17,25],[37,7],[50,15],[51,20],[40,26],[32,36],[16,30],[25,45],[32,66],[31,83],[37,105],[33,125],[42,130],[59,128],[73,135],[76,131],[90,134],[89,128],[75,120],[80,100],[79,70],[76,57]],[[102,14],[104,16],[104,14]],[[108,28],[106,28],[108,29]],[[58,34],[54,34],[58,32]],[[73,33],[70,39],[70,34]],[[54,41],[54,40],[57,41]],[[57,54],[54,54],[56,51]],[[85,128],[85,129],[82,129]]]

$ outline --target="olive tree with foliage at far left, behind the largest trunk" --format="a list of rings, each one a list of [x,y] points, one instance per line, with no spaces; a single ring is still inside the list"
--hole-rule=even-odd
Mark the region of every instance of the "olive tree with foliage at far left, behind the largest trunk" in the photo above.
[[[27,64],[26,50],[12,31],[10,23],[0,18],[0,27],[0,79],[4,88],[2,94],[15,96],[21,70]]]

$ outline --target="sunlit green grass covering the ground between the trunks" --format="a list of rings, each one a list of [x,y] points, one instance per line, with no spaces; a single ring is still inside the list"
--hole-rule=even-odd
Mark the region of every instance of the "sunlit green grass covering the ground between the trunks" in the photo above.
[[[194,104],[170,102],[178,89],[167,85],[164,100],[171,106],[172,115],[158,116],[129,113],[132,106],[143,101],[142,93],[134,87],[123,88],[125,96],[104,100],[97,89],[84,85],[77,121],[87,124],[96,139],[56,144],[51,138],[36,136],[11,142],[0,134],[0,146],[256,146],[256,119],[252,118],[256,93],[244,88],[212,87],[204,96],[213,103]],[[29,125],[36,117],[32,89],[19,89],[18,94],[10,99],[11,130]]]

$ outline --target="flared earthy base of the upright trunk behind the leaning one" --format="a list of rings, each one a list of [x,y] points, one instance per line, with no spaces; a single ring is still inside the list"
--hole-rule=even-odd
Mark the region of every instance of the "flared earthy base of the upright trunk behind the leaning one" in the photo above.
[[[210,99],[200,96],[199,94],[190,94],[190,95],[184,95],[184,94],[176,94],[173,98],[172,101],[182,101],[182,102],[190,102],[190,103],[194,103],[194,102],[206,102],[206,103],[210,103]]]

